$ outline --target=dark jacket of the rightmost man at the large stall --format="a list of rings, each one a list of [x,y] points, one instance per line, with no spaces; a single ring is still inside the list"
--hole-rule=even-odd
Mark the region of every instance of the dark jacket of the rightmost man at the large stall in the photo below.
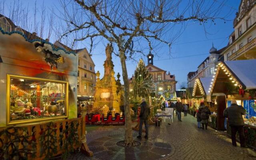
[[[223,112],[223,116],[228,118],[228,124],[230,126],[244,126],[244,119],[242,117],[244,114],[246,114],[246,110],[237,104],[231,104]]]

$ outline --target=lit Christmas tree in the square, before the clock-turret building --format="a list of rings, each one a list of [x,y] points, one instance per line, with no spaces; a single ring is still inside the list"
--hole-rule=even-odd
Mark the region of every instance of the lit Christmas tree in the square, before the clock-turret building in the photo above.
[[[140,59],[132,78],[132,88],[134,98],[148,98],[152,88],[152,75],[148,72],[145,63]]]

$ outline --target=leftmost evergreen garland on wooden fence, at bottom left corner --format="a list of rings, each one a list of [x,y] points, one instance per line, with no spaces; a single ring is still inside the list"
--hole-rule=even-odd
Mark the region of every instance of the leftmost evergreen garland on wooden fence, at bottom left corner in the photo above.
[[[22,133],[22,134],[20,134]],[[36,156],[36,142],[30,140],[27,128],[10,127],[0,131],[0,159],[27,160],[28,154]],[[31,145],[32,149],[28,146]]]

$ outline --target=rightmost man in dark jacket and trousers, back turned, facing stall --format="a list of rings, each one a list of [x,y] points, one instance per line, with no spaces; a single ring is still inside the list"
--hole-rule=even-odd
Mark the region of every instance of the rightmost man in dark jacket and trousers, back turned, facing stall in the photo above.
[[[231,127],[233,146],[236,146],[236,132],[238,131],[240,146],[245,147],[244,119],[242,117],[244,114],[246,114],[246,110],[242,106],[238,106],[236,100],[232,100],[231,106],[226,108],[223,112],[224,117],[228,118],[228,124]]]

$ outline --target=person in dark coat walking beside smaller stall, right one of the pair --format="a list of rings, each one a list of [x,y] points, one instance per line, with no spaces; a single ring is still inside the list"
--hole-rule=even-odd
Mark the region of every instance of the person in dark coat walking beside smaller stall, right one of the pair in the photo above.
[[[207,108],[204,105],[204,102],[200,103],[198,113],[200,114],[202,129],[204,129],[204,126],[205,126],[205,129],[207,130],[208,119],[209,119],[209,116],[210,116],[211,112],[210,112],[209,108]]]

